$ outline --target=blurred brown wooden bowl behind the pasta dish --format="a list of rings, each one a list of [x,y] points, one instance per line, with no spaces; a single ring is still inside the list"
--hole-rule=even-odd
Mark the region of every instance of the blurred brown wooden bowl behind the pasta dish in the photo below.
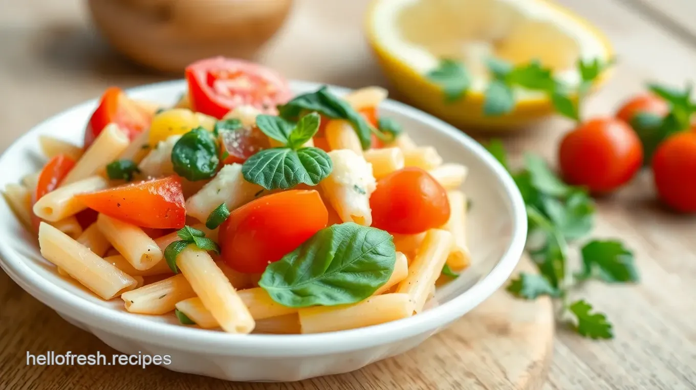
[[[88,0],[119,52],[164,72],[211,56],[249,59],[283,25],[292,0]]]

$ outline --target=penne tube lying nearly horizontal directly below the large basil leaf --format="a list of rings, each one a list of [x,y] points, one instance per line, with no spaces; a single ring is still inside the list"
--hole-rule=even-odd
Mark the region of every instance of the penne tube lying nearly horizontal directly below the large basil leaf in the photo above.
[[[299,309],[303,334],[369,327],[413,315],[408,294],[375,295],[351,305],[313,306]]]

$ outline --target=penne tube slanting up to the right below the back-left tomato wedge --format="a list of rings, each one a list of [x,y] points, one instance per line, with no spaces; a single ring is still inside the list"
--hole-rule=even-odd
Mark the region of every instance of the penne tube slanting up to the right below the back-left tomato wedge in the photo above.
[[[87,148],[81,159],[77,160],[70,173],[61,182],[61,187],[96,175],[104,169],[106,164],[117,159],[129,143],[127,135],[118,128],[118,125],[109,123]]]

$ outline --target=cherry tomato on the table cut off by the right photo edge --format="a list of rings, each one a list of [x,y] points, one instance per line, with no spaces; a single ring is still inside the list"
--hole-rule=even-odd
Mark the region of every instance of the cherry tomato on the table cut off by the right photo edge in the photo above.
[[[658,146],[652,160],[658,195],[680,212],[696,212],[696,134],[681,132]]]

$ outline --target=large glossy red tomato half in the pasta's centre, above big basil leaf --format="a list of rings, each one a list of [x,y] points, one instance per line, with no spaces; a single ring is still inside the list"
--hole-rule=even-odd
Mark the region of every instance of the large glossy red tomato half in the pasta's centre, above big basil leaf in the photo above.
[[[315,190],[270,194],[232,211],[220,226],[222,258],[235,270],[264,272],[326,227],[329,212]]]

